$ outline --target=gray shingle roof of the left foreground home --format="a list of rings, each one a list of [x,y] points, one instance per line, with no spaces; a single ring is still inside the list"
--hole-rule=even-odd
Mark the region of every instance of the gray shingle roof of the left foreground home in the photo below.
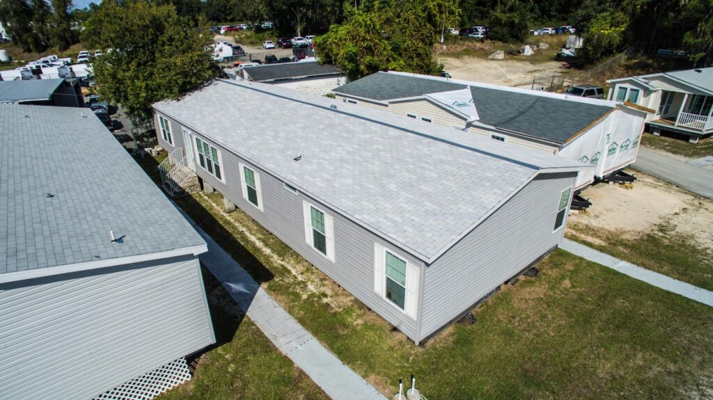
[[[205,245],[91,111],[0,105],[0,132],[0,273]]]

